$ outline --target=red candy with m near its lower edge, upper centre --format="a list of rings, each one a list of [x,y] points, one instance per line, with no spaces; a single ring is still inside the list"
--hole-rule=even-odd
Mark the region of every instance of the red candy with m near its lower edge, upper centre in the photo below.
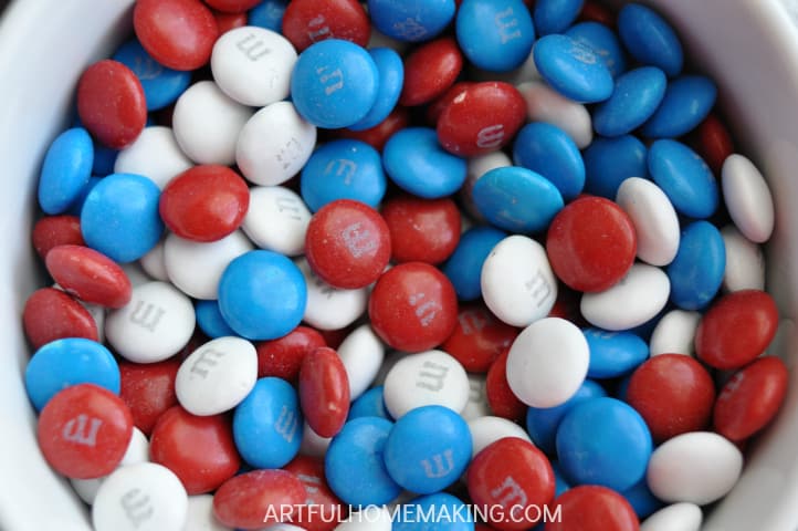
[[[441,112],[438,139],[454,155],[475,157],[507,145],[525,122],[526,101],[513,85],[473,83]]]

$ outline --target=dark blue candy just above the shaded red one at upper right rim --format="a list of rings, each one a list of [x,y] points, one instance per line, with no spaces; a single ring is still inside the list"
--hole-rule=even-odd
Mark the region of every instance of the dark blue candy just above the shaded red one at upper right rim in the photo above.
[[[710,114],[717,100],[717,86],[703,75],[684,75],[668,84],[665,97],[643,125],[650,138],[674,138],[693,131]]]

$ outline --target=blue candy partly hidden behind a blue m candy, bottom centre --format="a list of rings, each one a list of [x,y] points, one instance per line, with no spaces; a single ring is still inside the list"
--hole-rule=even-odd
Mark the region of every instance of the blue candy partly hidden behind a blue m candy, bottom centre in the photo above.
[[[327,485],[344,503],[381,506],[401,492],[382,460],[392,426],[385,418],[361,417],[346,423],[333,437],[324,458],[324,472]]]

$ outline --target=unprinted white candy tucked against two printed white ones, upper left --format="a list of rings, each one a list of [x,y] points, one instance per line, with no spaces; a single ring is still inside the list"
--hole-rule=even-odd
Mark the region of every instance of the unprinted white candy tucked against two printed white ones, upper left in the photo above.
[[[177,100],[171,126],[191,160],[231,166],[239,134],[251,116],[250,107],[229,97],[216,83],[200,81]]]

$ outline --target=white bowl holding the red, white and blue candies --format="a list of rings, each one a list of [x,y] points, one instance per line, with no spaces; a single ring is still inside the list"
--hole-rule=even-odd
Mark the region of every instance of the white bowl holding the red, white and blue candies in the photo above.
[[[687,58],[718,81],[736,138],[777,202],[768,285],[781,312],[774,345],[798,356],[798,37],[777,0],[652,0],[683,37]],[[784,2],[795,6],[796,2]],[[133,0],[18,0],[0,21],[0,529],[86,531],[85,506],[44,462],[22,384],[29,357],[21,312],[42,283],[30,244],[44,150],[64,128],[82,70],[130,28]],[[790,229],[792,227],[792,229]],[[798,524],[798,372],[776,423],[749,455],[735,490],[705,529],[795,530]]]

